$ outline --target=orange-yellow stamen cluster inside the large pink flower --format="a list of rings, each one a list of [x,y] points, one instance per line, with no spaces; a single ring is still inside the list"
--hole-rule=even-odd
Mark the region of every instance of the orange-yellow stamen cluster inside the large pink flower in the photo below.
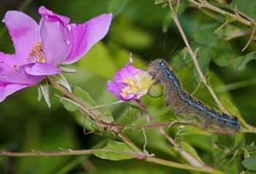
[[[32,50],[29,53],[29,59],[32,58],[34,58],[34,62],[45,63],[45,56],[42,50],[41,42],[36,42],[34,47],[32,47]]]

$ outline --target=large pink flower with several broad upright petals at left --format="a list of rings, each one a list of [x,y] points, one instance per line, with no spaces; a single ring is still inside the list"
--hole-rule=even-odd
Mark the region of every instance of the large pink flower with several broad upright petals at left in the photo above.
[[[108,32],[111,14],[99,15],[83,24],[39,7],[39,25],[28,15],[8,11],[3,22],[12,37],[15,54],[0,52],[0,102],[46,75],[60,74],[60,64],[78,61]]]

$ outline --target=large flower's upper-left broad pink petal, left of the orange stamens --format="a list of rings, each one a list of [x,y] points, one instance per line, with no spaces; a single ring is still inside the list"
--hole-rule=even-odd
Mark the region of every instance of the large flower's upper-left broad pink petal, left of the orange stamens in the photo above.
[[[31,48],[40,41],[39,26],[29,15],[18,11],[8,11],[3,22],[12,37],[17,61],[26,64]]]

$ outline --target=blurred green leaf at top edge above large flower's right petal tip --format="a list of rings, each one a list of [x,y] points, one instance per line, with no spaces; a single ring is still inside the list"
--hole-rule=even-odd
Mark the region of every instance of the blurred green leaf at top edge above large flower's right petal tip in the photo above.
[[[111,0],[108,4],[108,12],[112,12],[113,16],[116,17],[120,12],[124,10],[129,0]]]

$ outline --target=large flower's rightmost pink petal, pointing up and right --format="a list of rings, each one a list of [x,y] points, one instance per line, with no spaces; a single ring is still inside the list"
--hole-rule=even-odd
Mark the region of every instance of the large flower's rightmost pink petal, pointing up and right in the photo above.
[[[72,23],[69,32],[72,50],[64,64],[78,61],[96,42],[105,37],[112,14],[99,15],[83,24]]]

